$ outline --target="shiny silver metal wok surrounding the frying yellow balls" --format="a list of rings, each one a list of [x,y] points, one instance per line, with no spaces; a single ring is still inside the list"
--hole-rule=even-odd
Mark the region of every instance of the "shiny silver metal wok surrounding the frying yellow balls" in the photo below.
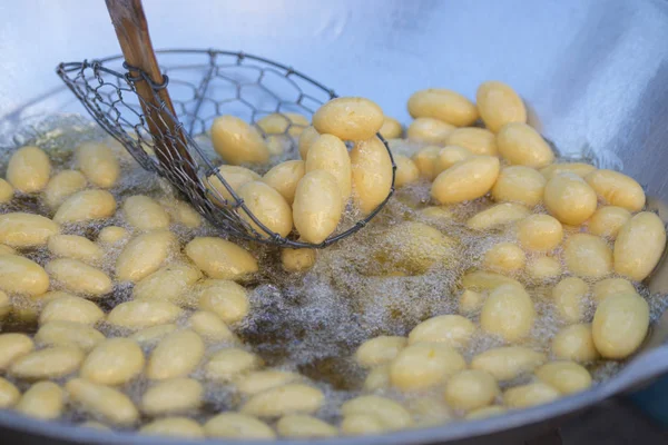
[[[405,101],[425,87],[473,97],[488,79],[512,85],[532,123],[561,154],[593,156],[638,178],[668,220],[668,1],[145,0],[155,44],[244,49],[293,65],[342,95],[363,95],[407,121]],[[33,116],[82,112],[53,67],[117,53],[101,3],[0,4],[0,134]],[[649,280],[668,293],[668,261]],[[479,422],[322,444],[499,443],[668,373],[668,313],[644,350],[612,379],[537,408]],[[0,437],[31,444],[158,444],[0,412]],[[216,441],[219,443],[219,441]],[[247,444],[248,442],[244,442]]]

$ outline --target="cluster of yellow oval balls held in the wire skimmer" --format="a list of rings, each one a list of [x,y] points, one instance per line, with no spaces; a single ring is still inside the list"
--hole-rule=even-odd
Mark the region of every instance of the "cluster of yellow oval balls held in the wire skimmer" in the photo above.
[[[257,219],[286,237],[293,228],[303,241],[320,244],[334,233],[352,197],[367,215],[385,200],[392,187],[392,160],[376,137],[383,110],[363,98],[337,98],[313,116],[313,126],[301,115],[268,115],[257,121],[261,131],[233,116],[214,120],[214,149],[227,164],[217,174],[232,186]],[[264,177],[245,168],[265,166],[283,151],[285,140],[297,138],[303,160],[274,166]],[[345,141],[353,141],[351,152]],[[289,144],[289,140],[287,140]],[[216,175],[208,187],[220,204],[233,196]],[[261,236],[268,236],[243,210],[242,217]]]

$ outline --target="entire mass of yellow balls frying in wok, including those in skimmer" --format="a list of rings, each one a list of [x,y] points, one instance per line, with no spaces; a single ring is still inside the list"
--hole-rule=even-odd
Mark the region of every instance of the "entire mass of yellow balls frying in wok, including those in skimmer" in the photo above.
[[[595,384],[601,360],[637,352],[650,323],[640,281],[666,244],[638,182],[556,161],[503,83],[483,83],[477,103],[429,89],[407,106],[406,139],[361,98],[325,103],[312,126],[295,113],[214,121],[235,192],[271,230],[316,244],[346,207],[367,214],[385,199],[392,166],[375,135],[391,140],[397,199],[317,256],[239,245],[165,189],[137,192],[122,178],[138,166],[108,140],[65,161],[16,150],[0,179],[0,408],[180,437],[380,434],[549,403]],[[272,167],[286,138],[302,159]],[[215,177],[209,186],[230,198]],[[416,296],[438,309],[365,320],[439,279],[442,294]],[[333,307],[350,305],[350,319],[325,301],[283,347],[355,336],[331,357],[356,369],[344,389],[276,365],[247,336],[267,288],[276,305],[302,293],[306,314],[324,287],[345,294]]]

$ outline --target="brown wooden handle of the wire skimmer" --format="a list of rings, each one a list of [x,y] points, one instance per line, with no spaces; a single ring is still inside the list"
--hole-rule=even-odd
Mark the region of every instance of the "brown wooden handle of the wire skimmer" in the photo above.
[[[141,0],[106,0],[106,2],[126,62],[147,73],[155,85],[161,85],[164,78],[150,42]],[[130,76],[137,77],[139,72],[130,70]],[[156,95],[148,82],[137,81],[135,87],[143,99],[141,109],[148,128],[151,135],[157,136],[154,136],[154,142],[158,161],[164,168],[173,170],[175,167],[173,160],[184,159],[185,162],[181,167],[188,177],[197,182],[193,158],[186,149],[186,138],[181,130],[176,129],[176,122],[168,115],[169,112],[176,117],[167,89],[164,88]],[[165,109],[160,108],[160,100],[165,102]],[[158,136],[167,132],[174,135],[175,138]]]

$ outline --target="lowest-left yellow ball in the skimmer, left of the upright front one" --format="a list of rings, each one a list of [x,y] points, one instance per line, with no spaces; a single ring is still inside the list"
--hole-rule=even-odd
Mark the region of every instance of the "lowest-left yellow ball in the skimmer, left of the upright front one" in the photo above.
[[[287,236],[293,227],[293,216],[289,204],[275,189],[261,181],[244,184],[238,196],[244,200],[248,210],[272,233],[282,237]],[[261,236],[271,237],[244,210],[237,210],[240,217]]]

